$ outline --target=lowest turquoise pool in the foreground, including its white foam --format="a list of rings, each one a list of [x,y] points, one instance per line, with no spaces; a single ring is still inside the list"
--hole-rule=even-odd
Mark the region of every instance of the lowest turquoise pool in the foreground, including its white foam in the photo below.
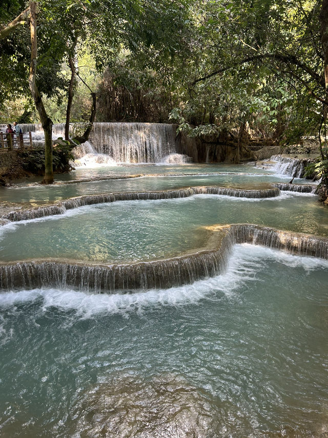
[[[321,436],[327,274],[237,245],[189,287],[3,294],[1,436]]]

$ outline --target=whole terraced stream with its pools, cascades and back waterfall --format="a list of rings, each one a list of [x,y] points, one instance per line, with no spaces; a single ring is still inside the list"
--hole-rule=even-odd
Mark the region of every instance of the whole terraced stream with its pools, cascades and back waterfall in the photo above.
[[[328,216],[299,163],[97,129],[56,185],[0,191],[0,436],[325,436]]]

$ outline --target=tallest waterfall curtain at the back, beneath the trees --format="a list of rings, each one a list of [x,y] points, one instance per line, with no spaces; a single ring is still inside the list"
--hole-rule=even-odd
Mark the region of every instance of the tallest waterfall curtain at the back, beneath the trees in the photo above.
[[[175,153],[175,137],[170,124],[94,123],[90,141],[117,163],[158,163]]]

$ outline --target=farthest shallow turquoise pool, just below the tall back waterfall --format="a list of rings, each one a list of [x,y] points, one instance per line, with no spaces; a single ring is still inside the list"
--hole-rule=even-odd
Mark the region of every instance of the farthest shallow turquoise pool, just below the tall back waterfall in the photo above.
[[[185,165],[186,166],[186,165]],[[68,199],[75,196],[90,194],[101,194],[111,192],[131,192],[131,191],[154,191],[165,190],[169,188],[180,188],[201,185],[219,185],[225,187],[244,187],[244,188],[268,188],[270,182],[289,182],[291,177],[285,175],[272,175],[268,170],[258,169],[250,165],[231,166],[231,165],[213,165],[213,166],[175,166],[170,167],[167,176],[145,176],[133,179],[92,181],[76,184],[64,185],[32,185],[17,186],[11,188],[0,187],[0,202],[3,203],[28,203],[29,205],[40,205],[48,202],[55,202],[61,199]],[[86,169],[85,178],[110,177],[118,175],[138,175],[154,174],[158,169],[159,174],[165,173],[164,166],[145,166],[145,167],[121,167],[114,168],[116,173],[111,172],[111,168]],[[123,172],[123,169],[125,172]],[[139,172],[140,170],[140,172]],[[180,174],[180,176],[169,176]],[[193,173],[194,175],[185,175],[183,173]],[[79,177],[81,174],[78,175]],[[56,176],[57,178],[58,176]],[[70,174],[64,174],[63,178],[71,178]],[[294,183],[305,183],[309,181],[295,179]],[[26,184],[26,182],[24,183]]]

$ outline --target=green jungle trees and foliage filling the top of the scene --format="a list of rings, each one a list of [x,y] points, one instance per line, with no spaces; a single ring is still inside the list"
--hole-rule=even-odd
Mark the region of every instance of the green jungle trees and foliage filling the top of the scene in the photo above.
[[[70,141],[85,121],[79,141],[94,120],[170,121],[233,138],[237,161],[245,136],[326,139],[328,0],[4,0],[0,17],[2,122],[64,122]]]

